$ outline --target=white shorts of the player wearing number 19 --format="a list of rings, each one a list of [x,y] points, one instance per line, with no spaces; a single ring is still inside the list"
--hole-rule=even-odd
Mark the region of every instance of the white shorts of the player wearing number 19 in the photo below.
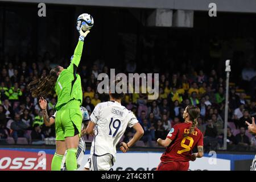
[[[102,156],[90,155],[84,168],[89,169],[89,171],[110,171],[113,165],[113,155],[111,154]]]

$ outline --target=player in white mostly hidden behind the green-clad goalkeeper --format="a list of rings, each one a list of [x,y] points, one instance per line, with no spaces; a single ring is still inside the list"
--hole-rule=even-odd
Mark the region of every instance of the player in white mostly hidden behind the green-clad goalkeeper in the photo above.
[[[44,124],[46,126],[53,125],[53,123],[55,123],[55,117],[57,112],[55,112],[51,117],[49,117],[47,113],[47,101],[43,97],[40,98],[39,100],[39,106],[43,111]],[[86,126],[88,125],[88,122],[90,121],[88,111],[85,107],[82,107],[82,106],[80,107],[80,111],[82,113],[82,128],[86,128]],[[79,146],[77,148],[77,155],[76,155],[77,169],[82,164],[82,158],[84,158],[84,154],[85,154],[85,141],[84,141],[84,138],[81,137],[79,140]],[[66,171],[66,164],[65,164],[66,155],[67,155],[67,151],[65,152],[63,161],[61,163],[61,171]]]

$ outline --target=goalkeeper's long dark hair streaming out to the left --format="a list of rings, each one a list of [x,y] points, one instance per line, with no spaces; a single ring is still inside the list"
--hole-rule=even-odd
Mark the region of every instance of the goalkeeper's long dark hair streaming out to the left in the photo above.
[[[32,93],[32,97],[47,97],[51,94],[57,78],[58,72],[60,71],[60,66],[56,66],[52,68],[48,76],[42,76],[34,81],[31,81],[30,84],[30,92]]]

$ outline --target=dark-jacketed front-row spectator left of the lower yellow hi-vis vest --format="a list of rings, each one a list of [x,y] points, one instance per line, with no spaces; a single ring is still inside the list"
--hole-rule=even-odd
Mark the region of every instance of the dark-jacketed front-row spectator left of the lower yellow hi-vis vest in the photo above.
[[[17,140],[19,137],[25,137],[28,141],[28,143],[30,143],[29,141],[29,136],[27,135],[27,125],[22,122],[20,120],[20,115],[19,114],[15,114],[14,116],[14,122],[11,123],[11,129],[13,130],[13,139],[15,144],[17,143]]]

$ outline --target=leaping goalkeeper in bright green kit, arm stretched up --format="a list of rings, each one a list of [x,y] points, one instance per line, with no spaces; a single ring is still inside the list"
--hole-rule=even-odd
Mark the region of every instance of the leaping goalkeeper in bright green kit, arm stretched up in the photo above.
[[[42,77],[30,83],[32,97],[47,97],[54,89],[57,94],[57,110],[55,118],[56,151],[52,159],[52,171],[60,171],[61,162],[67,150],[66,165],[68,171],[77,169],[77,146],[82,125],[81,78],[76,73],[79,66],[84,38],[90,31],[83,32],[80,28],[79,42],[75,53],[71,57],[71,64],[67,69],[57,66],[51,69],[49,76]]]

